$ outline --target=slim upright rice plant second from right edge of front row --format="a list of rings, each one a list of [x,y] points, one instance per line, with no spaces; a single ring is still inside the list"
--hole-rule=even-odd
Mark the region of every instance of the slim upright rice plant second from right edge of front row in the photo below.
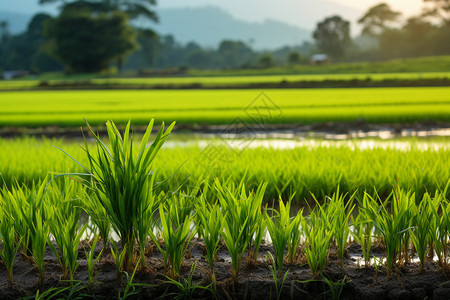
[[[431,223],[434,218],[432,205],[430,195],[425,194],[419,205],[412,207],[414,230],[411,232],[411,240],[420,260],[420,271],[423,271],[427,247],[431,240]]]

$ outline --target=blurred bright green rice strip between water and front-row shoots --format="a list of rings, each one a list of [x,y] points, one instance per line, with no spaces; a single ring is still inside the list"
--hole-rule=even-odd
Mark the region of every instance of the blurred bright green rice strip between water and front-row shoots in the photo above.
[[[287,199],[295,193],[296,200],[310,198],[310,192],[331,195],[338,185],[344,193],[356,190],[372,193],[376,189],[380,195],[386,195],[397,184],[418,195],[425,190],[434,193],[444,189],[450,180],[450,148],[442,146],[448,145],[449,140],[418,141],[403,140],[409,145],[406,149],[393,144],[385,149],[366,150],[360,149],[356,141],[284,150],[246,148],[235,151],[223,142],[206,148],[198,145],[166,147],[158,154],[154,169],[157,181],[176,173],[167,182],[168,190],[176,189],[186,178],[189,178],[187,186],[195,186],[201,180],[212,182],[213,176],[222,181],[239,182],[247,175],[249,189],[268,181],[266,200],[278,198],[278,194]],[[0,139],[0,173],[8,184],[14,179],[30,184],[51,172],[82,171],[58,149],[64,149],[86,164],[85,154],[79,147],[81,143],[56,139]],[[427,150],[419,147],[424,143],[429,146]],[[441,146],[435,147],[438,144]]]

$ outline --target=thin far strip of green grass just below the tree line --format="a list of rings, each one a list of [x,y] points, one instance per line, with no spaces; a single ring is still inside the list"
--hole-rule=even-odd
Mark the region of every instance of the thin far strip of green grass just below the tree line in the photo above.
[[[336,80],[420,80],[420,79],[446,79],[450,78],[449,72],[413,72],[413,73],[349,73],[349,74],[312,74],[312,75],[236,75],[236,76],[186,76],[186,77],[152,77],[152,78],[88,78],[88,79],[53,79],[47,83],[76,84],[87,83],[92,85],[114,85],[114,86],[182,86],[201,84],[202,87],[226,87],[247,86],[249,84],[270,84],[301,81],[336,81]],[[31,89],[38,87],[40,80],[14,80],[0,81],[0,90]]]

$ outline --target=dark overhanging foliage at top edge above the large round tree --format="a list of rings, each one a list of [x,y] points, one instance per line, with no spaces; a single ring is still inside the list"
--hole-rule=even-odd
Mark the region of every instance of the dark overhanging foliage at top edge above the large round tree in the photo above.
[[[156,5],[156,0],[39,0],[40,4],[62,3],[63,8],[83,9],[89,7],[95,13],[122,11],[130,19],[145,17],[157,21],[156,13],[151,9]]]

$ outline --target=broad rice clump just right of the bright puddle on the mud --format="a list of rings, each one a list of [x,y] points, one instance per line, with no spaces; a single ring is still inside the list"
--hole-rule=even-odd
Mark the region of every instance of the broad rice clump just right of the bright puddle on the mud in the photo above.
[[[410,229],[410,209],[411,202],[406,197],[392,197],[391,194],[384,202],[378,201],[368,196],[369,210],[374,225],[381,232],[382,240],[386,246],[386,268],[388,279],[390,279],[394,266],[399,260],[404,245],[404,234]],[[391,211],[387,204],[392,198]]]

